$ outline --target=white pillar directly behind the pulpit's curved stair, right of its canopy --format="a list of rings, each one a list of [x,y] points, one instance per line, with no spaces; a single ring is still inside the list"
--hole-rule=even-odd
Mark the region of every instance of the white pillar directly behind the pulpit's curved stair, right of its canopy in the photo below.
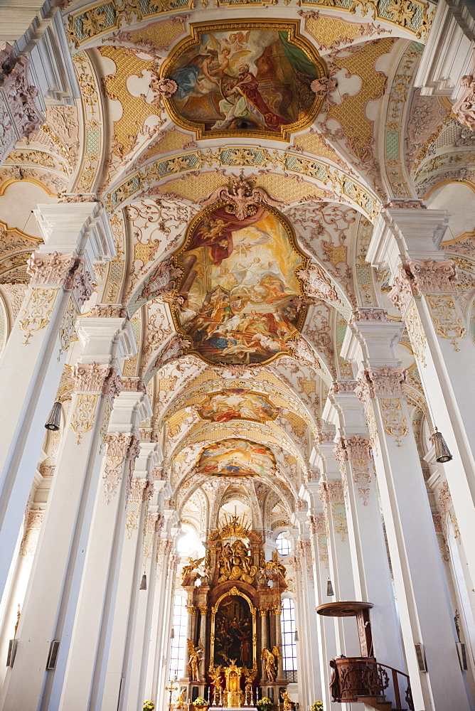
[[[368,650],[368,654],[404,671],[368,426],[355,386],[354,380],[333,383],[322,417],[336,426],[335,453],[345,491],[356,599],[373,604],[370,620],[374,650]]]

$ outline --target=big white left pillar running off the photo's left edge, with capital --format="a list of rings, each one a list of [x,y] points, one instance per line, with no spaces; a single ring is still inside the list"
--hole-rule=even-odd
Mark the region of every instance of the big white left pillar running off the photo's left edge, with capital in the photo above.
[[[92,294],[92,263],[115,254],[99,203],[40,205],[44,244],[0,359],[0,594],[14,555],[44,424],[55,400],[75,320]]]

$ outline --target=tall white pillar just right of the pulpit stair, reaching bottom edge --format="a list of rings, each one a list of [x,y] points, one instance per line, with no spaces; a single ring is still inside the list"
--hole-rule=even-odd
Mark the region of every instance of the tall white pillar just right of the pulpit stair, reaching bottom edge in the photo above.
[[[356,394],[365,406],[415,708],[466,711],[471,702],[460,672],[454,613],[410,427],[406,374],[393,351],[403,328],[394,321],[354,321],[341,354],[359,368]],[[420,670],[418,653],[427,672]]]

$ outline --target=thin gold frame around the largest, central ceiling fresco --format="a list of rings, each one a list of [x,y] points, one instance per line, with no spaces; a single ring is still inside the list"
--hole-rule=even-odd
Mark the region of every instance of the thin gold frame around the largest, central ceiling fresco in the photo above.
[[[181,264],[178,262],[178,257],[180,257],[183,252],[186,251],[186,247],[188,247],[188,243],[191,241],[191,237],[193,235],[194,230],[196,229],[196,226],[198,225],[203,218],[206,217],[209,213],[212,213],[214,210],[218,210],[219,208],[223,208],[225,205],[228,205],[229,203],[226,203],[225,201],[219,201],[218,203],[215,203],[214,205],[209,205],[207,208],[204,210],[201,210],[198,215],[195,215],[193,220],[190,221],[188,224],[188,227],[186,228],[185,232],[185,241],[183,242],[183,245],[178,248],[178,250],[175,250],[175,252],[171,255],[171,258],[174,260],[174,265],[177,268],[181,268]],[[289,239],[290,244],[292,245],[292,249],[297,252],[298,255],[302,257],[301,264],[297,264],[296,267],[294,267],[294,273],[297,272],[297,269],[306,269],[306,267],[309,266],[310,263],[310,257],[305,254],[303,250],[299,247],[299,244],[297,242],[297,239],[295,237],[295,232],[294,228],[292,228],[292,225],[290,224],[289,220],[285,215],[282,215],[280,210],[277,210],[277,208],[273,208],[272,205],[262,205],[267,212],[272,213],[273,215],[276,216],[277,220],[280,221],[280,223],[283,225],[284,230],[287,234],[287,237]],[[299,292],[300,296],[302,298],[305,298],[305,292],[304,289],[302,289],[301,286],[301,279],[297,277],[297,274],[295,274],[295,277],[297,279],[297,282],[299,282]],[[174,290],[173,295],[178,296],[179,293],[179,282],[178,282],[178,288]],[[180,322],[178,321],[178,316],[177,312],[179,310],[178,304],[171,304],[170,310],[171,310],[171,317],[174,321],[174,326],[175,330],[177,333],[181,333],[183,338],[188,338],[188,334],[186,331],[183,330],[183,328],[180,325]],[[308,312],[309,308],[308,306],[303,306],[302,309],[299,312],[299,320],[297,321],[297,331],[301,333],[301,329],[304,326],[305,319],[306,319],[306,314]],[[288,338],[285,339],[285,341],[292,341],[295,338],[295,336],[289,336]],[[188,339],[189,340],[189,339]],[[200,360],[203,360],[204,363],[207,363],[208,365],[220,365],[219,363],[214,363],[213,360],[209,360],[208,358],[205,358],[201,353],[198,351],[195,351],[193,348],[189,348],[186,351],[186,355],[196,355],[197,358],[200,358]],[[268,363],[272,363],[273,360],[276,358],[282,358],[284,355],[289,355],[289,353],[276,353],[275,355],[271,355],[270,358],[267,358],[267,360],[262,360],[262,363],[248,363],[246,364],[247,368],[257,368],[257,367],[262,367],[262,365],[268,365]],[[223,364],[223,367],[225,367],[225,363]]]

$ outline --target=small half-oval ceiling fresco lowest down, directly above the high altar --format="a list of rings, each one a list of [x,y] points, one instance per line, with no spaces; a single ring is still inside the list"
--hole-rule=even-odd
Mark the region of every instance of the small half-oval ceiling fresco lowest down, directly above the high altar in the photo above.
[[[222,439],[203,449],[196,470],[208,476],[262,476],[272,474],[275,466],[274,455],[264,444]]]

